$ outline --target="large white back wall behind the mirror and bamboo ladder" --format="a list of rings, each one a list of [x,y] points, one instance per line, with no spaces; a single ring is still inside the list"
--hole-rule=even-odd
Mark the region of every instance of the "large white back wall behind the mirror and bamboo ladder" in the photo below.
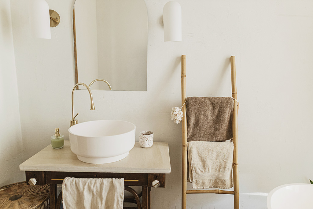
[[[236,55],[239,109],[239,184],[242,209],[265,209],[266,196],[286,183],[313,178],[312,1],[177,0],[182,42],[163,42],[167,0],[146,1],[147,91],[75,91],[80,122],[120,119],[168,142],[172,172],[166,188],[152,188],[152,208],[181,207],[180,56],[187,55],[188,96],[230,96],[229,57]],[[29,39],[23,0],[12,0],[21,127],[26,157],[50,144],[55,127],[67,137],[74,86],[73,0],[47,0],[61,16],[52,39]],[[188,189],[191,186],[188,185]],[[188,195],[188,208],[224,209],[232,196]]]

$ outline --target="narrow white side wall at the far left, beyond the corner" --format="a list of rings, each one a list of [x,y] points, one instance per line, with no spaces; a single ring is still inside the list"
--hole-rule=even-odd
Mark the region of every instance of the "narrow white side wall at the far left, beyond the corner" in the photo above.
[[[0,187],[25,180],[10,1],[0,1]]]

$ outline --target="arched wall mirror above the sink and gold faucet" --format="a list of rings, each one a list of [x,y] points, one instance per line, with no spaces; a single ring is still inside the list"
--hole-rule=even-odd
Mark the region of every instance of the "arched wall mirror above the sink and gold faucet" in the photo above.
[[[75,83],[104,79],[112,90],[147,90],[144,0],[76,0],[73,25]],[[90,89],[109,87],[97,81]]]

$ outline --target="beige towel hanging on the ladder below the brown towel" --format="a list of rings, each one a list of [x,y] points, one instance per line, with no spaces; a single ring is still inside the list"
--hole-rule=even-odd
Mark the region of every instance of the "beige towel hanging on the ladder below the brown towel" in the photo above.
[[[187,142],[193,189],[233,187],[233,142]]]

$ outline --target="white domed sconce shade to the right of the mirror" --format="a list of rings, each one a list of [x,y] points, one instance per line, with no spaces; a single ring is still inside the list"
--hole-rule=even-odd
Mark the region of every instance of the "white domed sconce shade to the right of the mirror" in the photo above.
[[[182,41],[182,7],[170,1],[163,8],[164,41]]]

